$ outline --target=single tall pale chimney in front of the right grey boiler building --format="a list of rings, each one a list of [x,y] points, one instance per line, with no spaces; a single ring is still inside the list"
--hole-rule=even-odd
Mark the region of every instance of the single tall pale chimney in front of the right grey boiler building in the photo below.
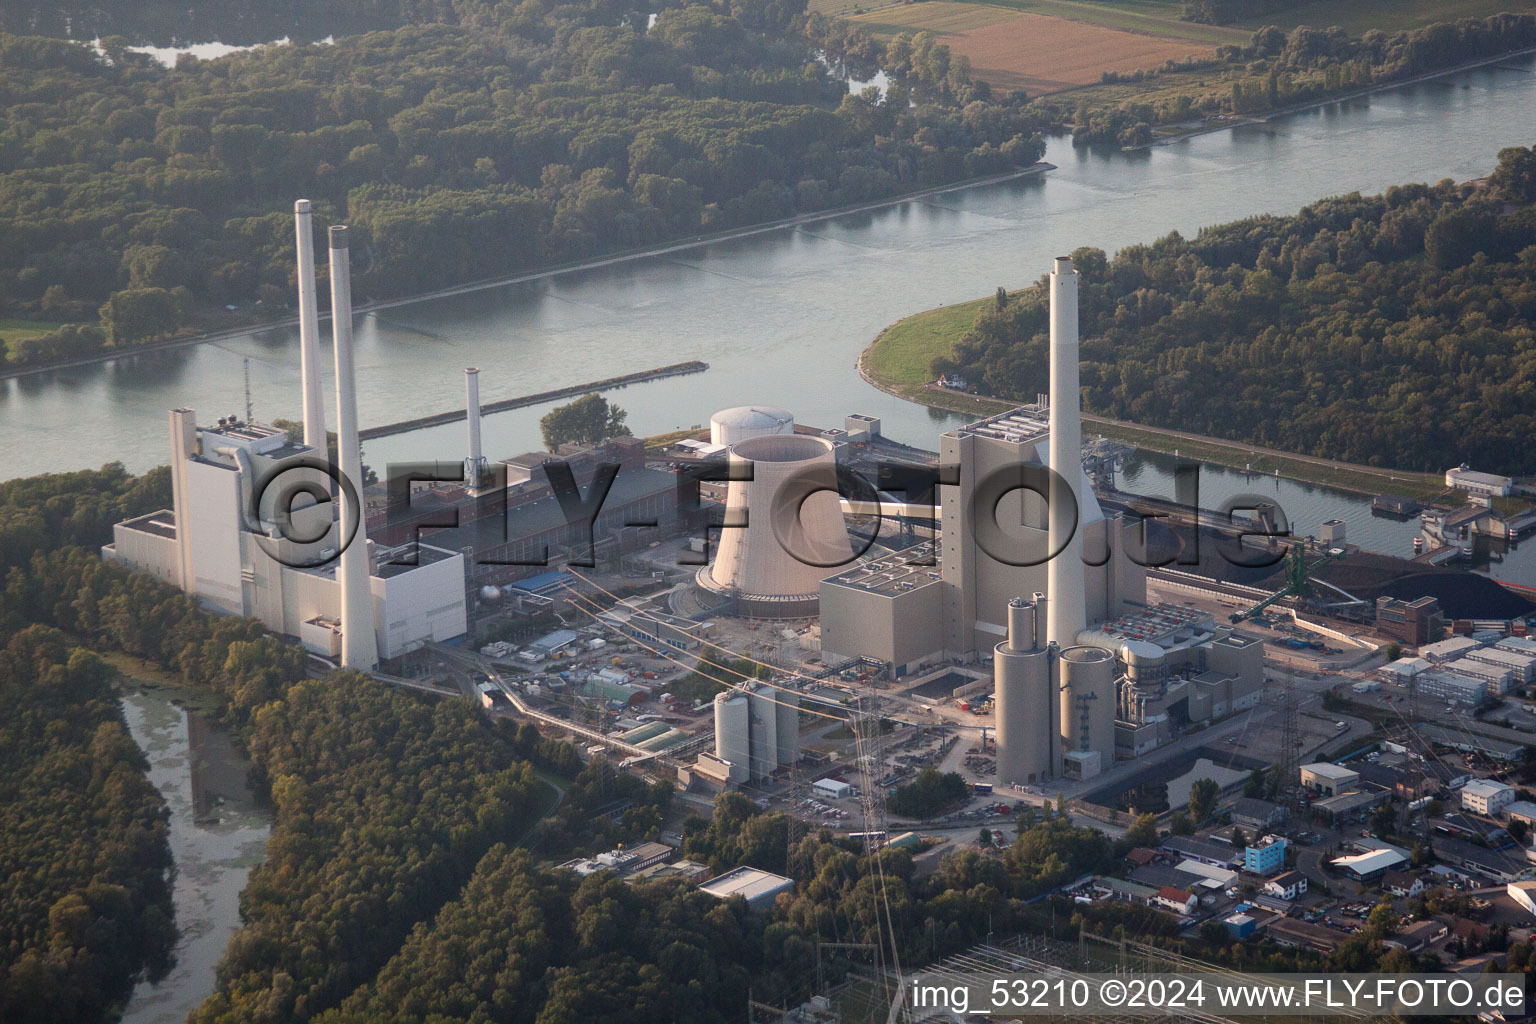
[[[1066,485],[1081,502],[1083,410],[1077,378],[1077,270],[1068,256],[1058,256],[1051,272],[1051,482],[1049,550],[1055,557],[1046,565],[1046,639],[1063,648],[1077,646],[1077,634],[1087,625],[1083,531],[1074,519],[1080,505],[1057,494]],[[1066,537],[1071,534],[1071,540]]]

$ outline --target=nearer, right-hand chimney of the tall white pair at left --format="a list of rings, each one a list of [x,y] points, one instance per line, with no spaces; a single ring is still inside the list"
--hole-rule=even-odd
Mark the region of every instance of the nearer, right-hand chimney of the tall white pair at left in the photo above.
[[[336,342],[336,456],[341,473],[356,488],[356,510],[349,508],[341,488],[339,530],[346,536],[353,513],[358,531],[341,553],[341,665],[370,672],[378,668],[378,642],[373,636],[373,593],[369,583],[369,539],[362,504],[362,444],[358,441],[356,378],[352,372],[352,256],[347,229],[330,229],[330,324]]]

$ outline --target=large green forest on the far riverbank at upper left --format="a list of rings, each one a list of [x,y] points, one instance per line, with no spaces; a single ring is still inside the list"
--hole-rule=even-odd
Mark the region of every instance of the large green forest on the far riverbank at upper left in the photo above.
[[[300,197],[316,236],[350,223],[366,302],[1043,152],[1023,97],[986,103],[931,37],[885,101],[849,95],[845,75],[874,74],[885,54],[803,0],[654,14],[464,0],[421,17],[445,20],[174,69],[121,37],[98,55],[0,34],[0,312],[75,324],[14,339],[5,358],[141,344],[229,322],[227,306],[286,313]]]

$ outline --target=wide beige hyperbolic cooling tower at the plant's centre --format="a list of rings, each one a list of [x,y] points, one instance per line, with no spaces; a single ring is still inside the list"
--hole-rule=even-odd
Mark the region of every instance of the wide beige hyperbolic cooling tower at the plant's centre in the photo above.
[[[731,462],[751,464],[753,479],[731,481],[725,500],[727,520],[745,516],[746,525],[720,530],[699,585],[734,599],[742,616],[814,616],[822,579],[852,560],[831,442],[748,438],[731,447]]]

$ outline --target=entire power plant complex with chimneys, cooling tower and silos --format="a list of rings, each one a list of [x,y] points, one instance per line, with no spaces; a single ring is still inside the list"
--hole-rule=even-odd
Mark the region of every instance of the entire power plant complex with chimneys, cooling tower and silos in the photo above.
[[[493,614],[548,606],[571,577],[531,567],[541,557],[544,565],[574,563],[584,553],[628,577],[673,577],[668,590],[645,599],[656,613],[619,605],[594,616],[642,645],[687,651],[700,643],[710,617],[725,617],[751,623],[748,629],[766,625],[779,639],[813,639],[806,649],[819,648],[823,666],[817,679],[874,671],[900,682],[991,659],[997,778],[1005,785],[1092,778],[1117,757],[1143,754],[1187,725],[1258,700],[1261,642],[1217,626],[1209,614],[1149,603],[1137,524],[1106,513],[1083,470],[1078,275],[1069,258],[1057,259],[1049,275],[1049,399],[945,431],[937,456],[885,439],[872,416],[849,415],[842,427],[814,430],[797,427],[786,410],[742,405],[711,416],[708,444],[691,438],[651,451],[617,438],[492,465],[481,441],[479,370],[467,367],[462,484],[407,494],[407,505],[418,497],[424,510],[404,517],[379,516],[381,508],[398,511],[399,496],[375,497],[370,524],[347,227],[329,229],[338,479],[319,468],[327,436],[307,201],[295,204],[295,239],[303,442],[249,416],[200,427],[192,410],[174,410],[172,508],[117,524],[106,557],[220,611],[257,617],[330,663],[373,671],[381,660],[464,634],[472,605]],[[605,461],[619,464],[588,519],[573,522],[568,502],[556,500],[554,459],[581,494]],[[731,470],[720,477],[728,476],[723,504],[700,500],[691,467],[722,462]],[[840,493],[843,470],[879,477],[891,465],[914,481],[940,482],[926,499],[911,482],[912,493],[897,497],[902,484],[883,477],[872,499]],[[280,474],[284,487],[272,487]],[[493,490],[507,499],[498,516],[484,511],[496,505],[482,500]],[[445,508],[461,514],[465,533],[452,543],[447,536],[416,539],[416,524],[438,527],[435,516]],[[716,551],[696,570],[657,573],[628,562],[644,563],[665,539],[700,528],[705,539],[682,547]],[[521,586],[516,580],[541,576],[547,579],[516,591],[522,597],[504,600]],[[551,651],[530,654],[531,663]],[[565,676],[530,692],[559,691]],[[607,711],[645,689],[613,666],[599,676],[590,692],[611,705]],[[713,705],[700,703],[696,714],[713,711],[713,749],[682,771],[714,786],[782,781],[802,758],[802,708],[846,712],[794,676],[745,680]],[[668,742],[684,735],[653,731]],[[624,742],[654,749],[641,746],[653,738],[641,732],[631,725]],[[700,745],[710,738],[697,737]]]

